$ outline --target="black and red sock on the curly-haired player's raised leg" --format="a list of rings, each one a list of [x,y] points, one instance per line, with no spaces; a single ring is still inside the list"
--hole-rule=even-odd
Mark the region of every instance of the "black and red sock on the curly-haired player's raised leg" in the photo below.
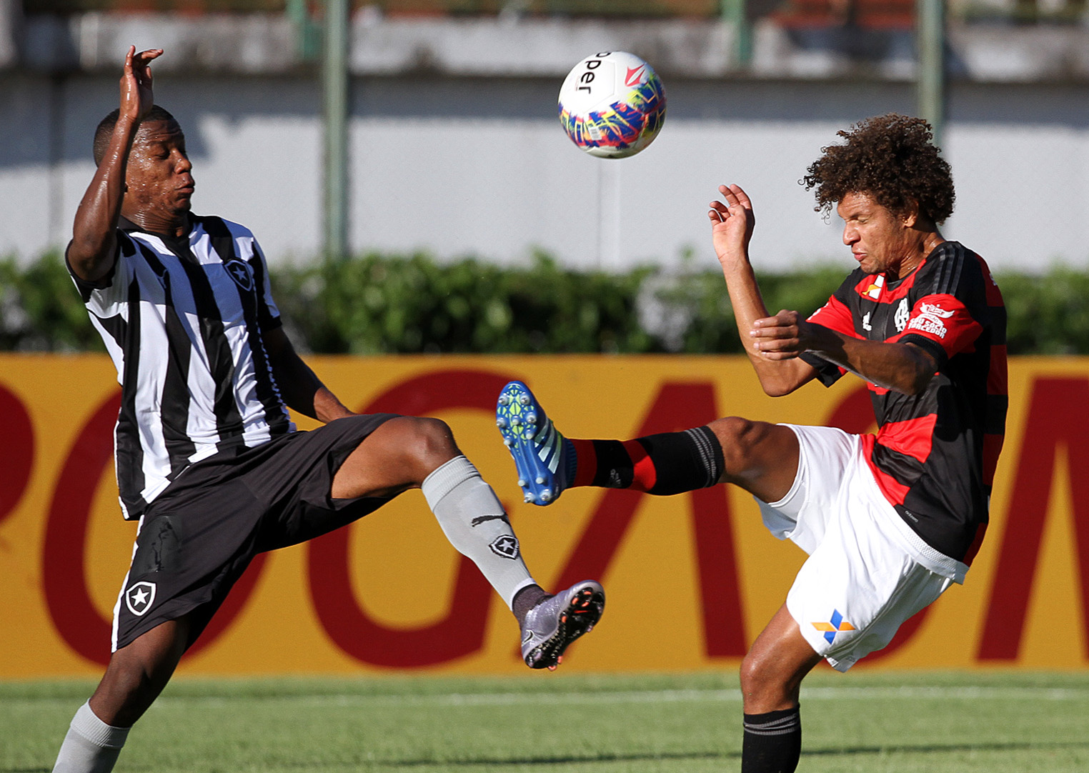
[[[577,466],[570,486],[634,489],[668,496],[706,489],[722,475],[722,446],[710,427],[635,440],[568,440]]]

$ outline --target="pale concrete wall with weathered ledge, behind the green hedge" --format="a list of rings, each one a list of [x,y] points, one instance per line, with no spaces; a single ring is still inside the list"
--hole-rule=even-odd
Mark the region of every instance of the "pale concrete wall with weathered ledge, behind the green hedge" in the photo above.
[[[555,119],[560,61],[585,53],[538,54],[523,40],[525,61],[538,62],[539,72],[503,75],[516,58],[506,51],[507,63],[495,62],[480,41],[475,65],[433,50],[425,56],[420,46],[416,60],[403,51],[401,59],[380,56],[381,49],[360,48],[374,27],[366,22],[357,20],[352,85],[350,238],[356,250],[426,249],[512,262],[542,248],[568,265],[622,268],[674,262],[694,248],[713,266],[706,205],[719,183],[737,182],[758,208],[754,255],[761,265],[849,260],[836,218],[825,223],[815,213],[811,194],[797,181],[837,128],[890,110],[914,112],[910,83],[885,72],[903,64],[895,53],[902,46],[869,68],[857,57],[839,70],[829,57],[811,57],[809,71],[774,75],[767,72],[771,58],[757,65],[763,72],[731,74],[723,70],[729,58],[714,53],[722,47],[707,42],[729,42],[714,27],[699,45],[683,36],[674,41],[689,52],[687,63],[660,45],[668,62],[660,68],[665,127],[639,156],[603,161],[571,145]],[[140,47],[178,35],[157,34],[154,25],[129,32]],[[492,42],[503,39],[486,32]],[[464,29],[461,37],[457,27],[446,33],[436,39],[464,45]],[[584,37],[583,48],[610,42],[608,35]],[[84,65],[47,66],[61,54],[50,60],[38,47],[37,63],[0,73],[0,254],[33,257],[66,241],[93,173],[90,134],[117,105],[119,68],[106,61],[102,34],[83,29],[74,39],[83,41]],[[395,36],[387,48],[402,50],[390,40]],[[107,42],[120,61],[123,46],[113,37]],[[182,66],[183,54],[168,49],[156,73],[157,100],[187,133],[195,209],[249,225],[274,261],[313,257],[321,225],[316,75],[290,58],[281,66],[256,54],[260,66],[224,64],[227,72],[216,72],[211,54],[174,42],[189,64],[206,57],[204,66]],[[790,56],[805,53],[795,44]],[[768,50],[758,54],[768,59]],[[780,69],[788,53],[778,60]],[[956,61],[972,57],[987,60]],[[958,196],[946,235],[999,268],[1043,268],[1054,259],[1085,265],[1089,81],[1079,71],[996,79],[977,73],[952,87],[944,145]]]

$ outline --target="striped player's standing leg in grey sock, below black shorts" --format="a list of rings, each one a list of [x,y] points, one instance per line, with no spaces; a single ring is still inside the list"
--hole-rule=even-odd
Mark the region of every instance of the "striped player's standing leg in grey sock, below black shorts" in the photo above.
[[[186,618],[168,621],[110,657],[98,688],[79,707],[53,773],[109,773],[130,728],[167,686],[188,645]]]

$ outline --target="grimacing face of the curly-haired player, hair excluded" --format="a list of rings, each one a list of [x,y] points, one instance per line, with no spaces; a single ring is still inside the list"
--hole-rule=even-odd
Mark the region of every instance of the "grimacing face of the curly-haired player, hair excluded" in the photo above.
[[[915,218],[897,217],[865,193],[847,194],[835,211],[843,218],[843,243],[862,271],[898,277],[902,263],[914,256]]]

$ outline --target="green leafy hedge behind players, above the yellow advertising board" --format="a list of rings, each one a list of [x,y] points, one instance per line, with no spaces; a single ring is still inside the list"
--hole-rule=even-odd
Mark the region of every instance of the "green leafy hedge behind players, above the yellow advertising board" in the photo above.
[[[817,308],[846,266],[760,277],[769,309]],[[1011,354],[1089,354],[1089,269],[998,275]],[[572,271],[546,255],[528,267],[370,254],[272,270],[273,293],[303,352],[739,353],[718,270]],[[56,253],[0,260],[0,349],[101,351]]]

